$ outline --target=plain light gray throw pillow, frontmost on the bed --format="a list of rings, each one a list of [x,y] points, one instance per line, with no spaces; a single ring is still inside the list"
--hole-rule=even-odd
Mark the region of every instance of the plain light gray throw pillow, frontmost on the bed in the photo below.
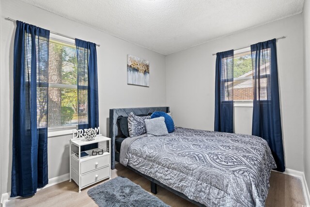
[[[162,116],[154,119],[145,119],[144,122],[148,137],[164,136],[169,134],[165,124],[165,118]]]

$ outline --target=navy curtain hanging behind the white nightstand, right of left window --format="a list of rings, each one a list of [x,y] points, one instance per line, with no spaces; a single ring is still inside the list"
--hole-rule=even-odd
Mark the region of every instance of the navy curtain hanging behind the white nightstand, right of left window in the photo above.
[[[96,44],[76,39],[76,47],[78,58],[78,129],[99,127]],[[96,146],[97,144],[87,145],[83,150]]]

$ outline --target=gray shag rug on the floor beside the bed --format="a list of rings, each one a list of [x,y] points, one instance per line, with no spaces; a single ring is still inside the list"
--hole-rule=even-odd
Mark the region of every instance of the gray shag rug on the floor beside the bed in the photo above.
[[[99,207],[169,207],[125,177],[111,179],[87,193]]]

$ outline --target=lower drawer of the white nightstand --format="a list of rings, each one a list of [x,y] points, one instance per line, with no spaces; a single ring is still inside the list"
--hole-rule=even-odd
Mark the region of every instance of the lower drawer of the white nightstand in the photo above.
[[[84,186],[87,186],[89,184],[92,184],[94,182],[97,182],[101,179],[108,178],[110,176],[110,168],[105,167],[100,170],[96,170],[92,173],[82,175],[81,176],[81,188]]]

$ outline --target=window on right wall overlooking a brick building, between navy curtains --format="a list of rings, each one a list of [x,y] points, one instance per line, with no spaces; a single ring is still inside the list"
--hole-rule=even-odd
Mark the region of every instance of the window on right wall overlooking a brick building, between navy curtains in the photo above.
[[[238,51],[238,50],[237,50]],[[239,50],[240,51],[240,50]],[[255,56],[255,53],[253,53]],[[267,85],[270,80],[270,49],[263,51],[266,63],[260,63],[260,96],[267,99]],[[253,101],[253,67],[250,48],[233,55],[233,100],[235,102]],[[257,96],[259,96],[257,94]]]

